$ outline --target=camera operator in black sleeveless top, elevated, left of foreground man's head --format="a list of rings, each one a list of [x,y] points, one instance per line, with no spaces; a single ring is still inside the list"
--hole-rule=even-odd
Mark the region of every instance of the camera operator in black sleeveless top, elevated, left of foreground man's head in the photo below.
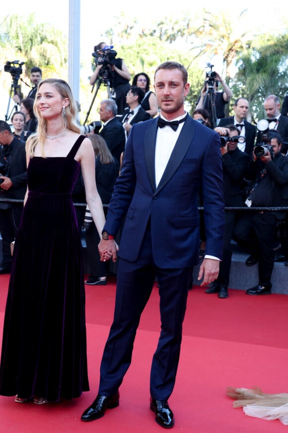
[[[130,72],[123,59],[117,59],[117,52],[112,50],[113,45],[108,46],[105,42],[100,42],[94,47],[92,53],[96,62],[96,69],[90,77],[90,84],[94,85],[97,79],[101,79],[111,88],[111,97],[115,99],[118,107],[118,114],[124,113],[126,105],[126,95],[131,87]]]

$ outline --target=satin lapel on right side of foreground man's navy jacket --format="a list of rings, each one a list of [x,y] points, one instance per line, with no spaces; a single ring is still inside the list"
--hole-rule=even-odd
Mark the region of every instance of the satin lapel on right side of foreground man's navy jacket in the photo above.
[[[186,155],[187,150],[191,144],[191,141],[194,137],[195,133],[195,125],[192,118],[187,115],[187,119],[183,125],[183,128],[180,132],[178,140],[174,146],[174,149],[169,158],[168,164],[164,170],[163,176],[160,179],[160,182],[157,186],[155,193],[158,193],[166,183],[171,179],[179,165],[181,164],[184,156]],[[155,176],[155,174],[154,174]]]

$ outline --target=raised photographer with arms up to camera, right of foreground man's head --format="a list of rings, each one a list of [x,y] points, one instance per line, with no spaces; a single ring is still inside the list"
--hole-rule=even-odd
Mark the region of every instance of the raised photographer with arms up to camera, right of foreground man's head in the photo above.
[[[230,101],[232,92],[222,77],[212,70],[213,66],[207,63],[207,67],[211,70],[206,72],[204,87],[195,109],[205,108],[209,112],[212,126],[215,128],[217,119],[225,117],[225,105]],[[223,92],[218,92],[219,83],[222,85]]]

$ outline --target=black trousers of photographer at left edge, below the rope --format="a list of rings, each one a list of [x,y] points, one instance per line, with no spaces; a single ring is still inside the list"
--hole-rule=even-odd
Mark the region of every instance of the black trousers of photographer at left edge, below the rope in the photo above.
[[[2,237],[2,260],[0,267],[10,269],[12,257],[10,244],[15,239],[20,225],[23,205],[10,205],[8,209],[0,209],[0,233]]]

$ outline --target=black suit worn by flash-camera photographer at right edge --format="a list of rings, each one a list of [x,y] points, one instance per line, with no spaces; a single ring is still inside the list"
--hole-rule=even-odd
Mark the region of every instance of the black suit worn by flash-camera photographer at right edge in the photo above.
[[[267,171],[264,175],[263,169]],[[257,182],[252,196],[252,207],[287,206],[288,158],[286,156],[278,153],[267,164],[260,159],[251,160],[245,178]],[[274,267],[273,241],[276,237],[278,221],[283,219],[285,214],[285,211],[244,212],[234,229],[233,236],[237,243],[259,260],[259,286],[264,286],[269,293]]]

